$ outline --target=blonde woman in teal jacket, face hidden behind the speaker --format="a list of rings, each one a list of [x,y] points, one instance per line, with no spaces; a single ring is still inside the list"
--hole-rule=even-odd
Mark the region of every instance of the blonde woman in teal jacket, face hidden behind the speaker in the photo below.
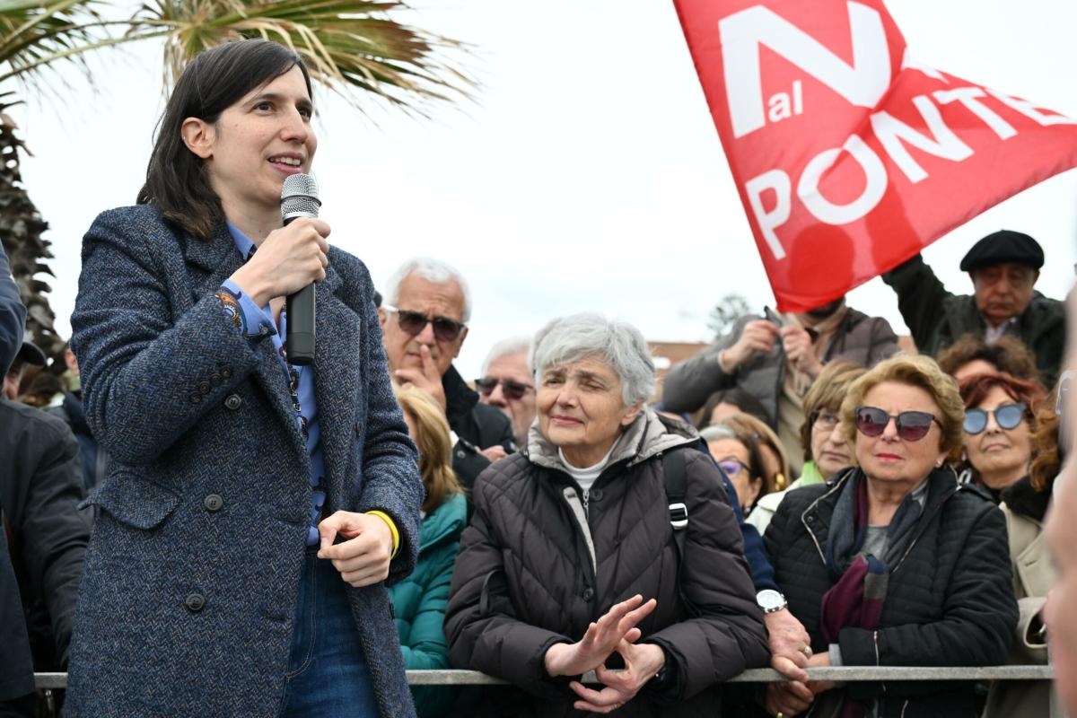
[[[449,648],[442,623],[449,600],[452,564],[460,534],[467,523],[463,489],[452,471],[449,424],[425,392],[394,386],[411,440],[419,448],[419,474],[426,497],[422,503],[419,562],[415,572],[389,589],[404,651],[404,667],[433,671],[449,667]],[[456,690],[412,687],[419,716],[440,716],[452,706]]]

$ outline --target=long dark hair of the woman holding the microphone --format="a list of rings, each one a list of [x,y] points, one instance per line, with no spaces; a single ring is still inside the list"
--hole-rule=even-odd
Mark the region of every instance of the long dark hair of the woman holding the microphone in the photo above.
[[[222,112],[244,95],[293,67],[303,71],[307,94],[313,97],[303,60],[276,42],[235,40],[198,55],[180,75],[157,123],[157,137],[138,203],[153,205],[169,222],[199,239],[208,239],[213,226],[224,219],[224,212],[201,158],[183,143],[183,121],[197,117],[215,123]]]

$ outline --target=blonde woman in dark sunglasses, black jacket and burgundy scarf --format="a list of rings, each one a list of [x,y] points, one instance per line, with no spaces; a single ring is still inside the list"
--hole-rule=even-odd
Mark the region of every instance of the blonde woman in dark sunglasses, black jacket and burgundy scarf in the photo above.
[[[858,467],[786,494],[764,536],[774,578],[812,637],[808,665],[995,665],[1018,618],[1003,513],[963,490],[964,406],[925,356],[850,386],[841,426]],[[977,715],[968,684],[828,681],[767,688],[771,715]]]

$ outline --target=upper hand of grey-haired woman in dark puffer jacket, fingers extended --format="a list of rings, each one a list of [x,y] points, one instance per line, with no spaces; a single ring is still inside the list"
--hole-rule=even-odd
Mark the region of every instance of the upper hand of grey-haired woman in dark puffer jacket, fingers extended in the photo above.
[[[605,663],[621,640],[633,643],[640,637],[637,623],[655,609],[658,602],[643,603],[643,596],[615,604],[598,621],[587,627],[587,633],[574,644],[554,644],[544,658],[550,676],[577,676]]]

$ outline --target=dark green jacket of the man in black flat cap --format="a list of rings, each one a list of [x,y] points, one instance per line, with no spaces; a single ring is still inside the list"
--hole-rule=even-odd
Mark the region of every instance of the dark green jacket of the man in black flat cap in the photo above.
[[[976,308],[976,297],[951,294],[919,254],[882,276],[897,293],[897,307],[922,354],[937,356],[964,334],[983,336],[987,323]],[[1066,342],[1065,304],[1033,293],[1029,308],[1018,318],[1017,338],[1036,355],[1046,386],[1053,386]]]

